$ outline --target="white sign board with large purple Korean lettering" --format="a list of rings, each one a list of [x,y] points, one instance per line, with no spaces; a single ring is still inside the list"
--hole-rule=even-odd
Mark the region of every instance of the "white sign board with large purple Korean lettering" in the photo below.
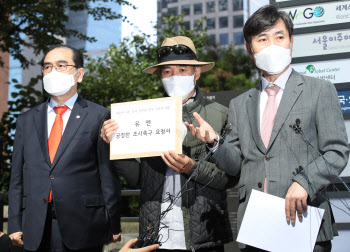
[[[294,35],[293,58],[350,52],[350,30]]]

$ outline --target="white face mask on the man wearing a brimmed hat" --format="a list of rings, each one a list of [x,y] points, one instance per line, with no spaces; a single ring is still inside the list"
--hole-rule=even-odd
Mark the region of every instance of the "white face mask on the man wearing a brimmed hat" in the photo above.
[[[191,76],[171,76],[162,79],[165,92],[170,96],[182,96],[185,100],[194,89],[194,74]]]

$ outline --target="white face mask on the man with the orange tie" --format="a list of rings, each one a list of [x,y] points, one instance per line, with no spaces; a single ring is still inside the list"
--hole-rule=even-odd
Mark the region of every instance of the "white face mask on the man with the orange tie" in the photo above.
[[[76,71],[77,73],[78,71]],[[67,93],[71,87],[75,84],[74,75],[60,73],[55,69],[52,72],[44,76],[44,89],[52,96],[60,96]]]

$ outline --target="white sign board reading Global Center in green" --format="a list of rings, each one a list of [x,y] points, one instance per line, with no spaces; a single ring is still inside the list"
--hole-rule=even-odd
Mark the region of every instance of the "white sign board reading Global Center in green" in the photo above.
[[[350,59],[292,64],[300,74],[328,80],[333,84],[350,82]]]

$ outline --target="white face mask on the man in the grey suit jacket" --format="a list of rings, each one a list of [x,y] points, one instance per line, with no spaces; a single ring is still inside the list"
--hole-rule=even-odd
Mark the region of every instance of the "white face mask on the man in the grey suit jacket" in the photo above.
[[[290,64],[290,49],[270,45],[259,53],[254,53],[256,66],[269,74],[279,74]]]

